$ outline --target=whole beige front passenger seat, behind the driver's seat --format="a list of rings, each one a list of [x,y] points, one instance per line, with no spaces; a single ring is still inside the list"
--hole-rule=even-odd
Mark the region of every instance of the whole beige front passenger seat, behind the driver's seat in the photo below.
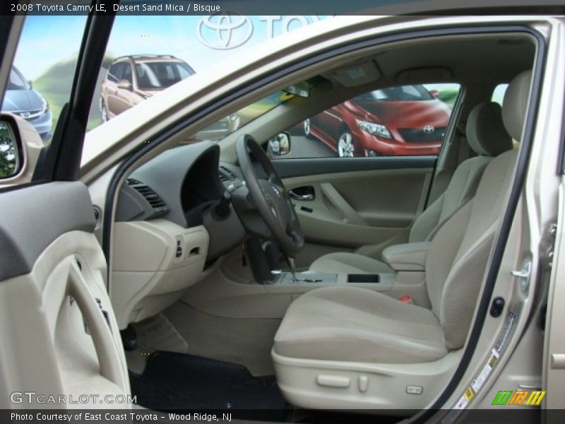
[[[463,161],[453,173],[444,194],[418,216],[410,228],[408,242],[432,240],[448,218],[475,195],[484,168],[499,154],[512,148],[502,122],[501,107],[494,102],[475,106],[469,114],[467,137],[477,157]],[[310,271],[325,273],[392,273],[383,261],[362,254],[335,252],[312,262]]]

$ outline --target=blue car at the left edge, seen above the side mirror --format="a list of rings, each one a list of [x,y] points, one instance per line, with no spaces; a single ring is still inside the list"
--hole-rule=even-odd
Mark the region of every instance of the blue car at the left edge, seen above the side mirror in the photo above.
[[[47,100],[33,89],[31,81],[12,66],[6,94],[1,107],[2,112],[11,112],[30,122],[43,141],[51,139],[53,116]]]

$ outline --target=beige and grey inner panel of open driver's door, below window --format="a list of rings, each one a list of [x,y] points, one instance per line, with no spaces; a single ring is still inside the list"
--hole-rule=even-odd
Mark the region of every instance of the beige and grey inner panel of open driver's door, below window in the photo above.
[[[100,396],[85,408],[99,407],[102,396],[129,395],[88,190],[53,182],[1,200],[10,205],[0,208],[1,407],[40,406],[25,396],[11,401],[23,391]]]

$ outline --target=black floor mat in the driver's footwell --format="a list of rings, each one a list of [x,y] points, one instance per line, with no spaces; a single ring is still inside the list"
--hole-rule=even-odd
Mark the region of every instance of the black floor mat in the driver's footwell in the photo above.
[[[255,418],[285,420],[288,406],[275,377],[253,377],[242,365],[172,352],[151,355],[142,374],[130,372],[137,403],[159,411],[271,410]]]

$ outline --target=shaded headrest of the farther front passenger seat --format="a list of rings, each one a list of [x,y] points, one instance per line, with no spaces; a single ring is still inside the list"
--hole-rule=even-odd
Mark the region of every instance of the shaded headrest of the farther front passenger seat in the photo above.
[[[498,103],[484,102],[472,108],[466,127],[469,146],[478,155],[497,156],[512,148]]]

